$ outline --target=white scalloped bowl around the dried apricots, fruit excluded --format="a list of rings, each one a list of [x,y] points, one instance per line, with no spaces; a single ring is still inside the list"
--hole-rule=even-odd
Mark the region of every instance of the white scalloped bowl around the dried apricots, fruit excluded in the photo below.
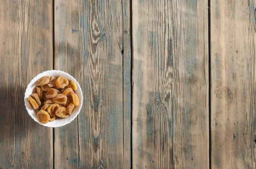
[[[37,113],[35,112],[35,110],[33,109],[32,105],[30,104],[30,102],[28,101],[29,96],[32,93],[36,93],[36,81],[38,79],[40,79],[43,76],[55,76],[55,77],[59,77],[59,76],[63,76],[65,78],[67,78],[68,80],[73,80],[76,82],[77,84],[77,90],[75,90],[74,92],[77,94],[78,98],[79,98],[79,105],[75,106],[75,108],[73,109],[73,112],[71,115],[69,115],[67,118],[56,118],[55,121],[49,121],[47,124],[42,124],[38,121],[37,119]],[[26,110],[29,113],[29,115],[39,124],[46,126],[46,127],[61,127],[64,126],[66,124],[69,124],[71,121],[73,121],[76,116],[79,114],[82,104],[83,104],[83,93],[81,90],[81,87],[79,85],[79,83],[76,81],[75,78],[73,78],[73,76],[71,76],[68,73],[65,73],[63,71],[60,70],[48,70],[45,71],[43,73],[38,74],[37,76],[35,76],[34,79],[32,79],[32,81],[29,83],[29,85],[26,88],[26,92],[25,92],[25,97],[24,97],[24,101],[25,101],[25,106],[26,106]]]

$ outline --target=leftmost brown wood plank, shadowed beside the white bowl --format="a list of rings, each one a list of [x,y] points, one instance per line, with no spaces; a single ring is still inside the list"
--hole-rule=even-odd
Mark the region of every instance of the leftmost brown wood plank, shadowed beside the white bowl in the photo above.
[[[23,100],[32,78],[52,69],[52,1],[0,0],[0,11],[0,168],[52,168],[52,129]]]

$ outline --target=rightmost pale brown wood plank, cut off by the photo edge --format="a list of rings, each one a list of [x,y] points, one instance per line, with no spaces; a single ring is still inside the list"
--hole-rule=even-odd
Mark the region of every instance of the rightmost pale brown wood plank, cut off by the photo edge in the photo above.
[[[256,1],[211,1],[212,168],[255,168]]]

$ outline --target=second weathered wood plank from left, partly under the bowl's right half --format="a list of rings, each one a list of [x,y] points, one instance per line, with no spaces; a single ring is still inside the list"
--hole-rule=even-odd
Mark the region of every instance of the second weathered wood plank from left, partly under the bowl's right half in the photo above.
[[[84,96],[77,124],[55,130],[55,166],[129,168],[128,24],[128,1],[55,0],[55,68],[74,76]]]

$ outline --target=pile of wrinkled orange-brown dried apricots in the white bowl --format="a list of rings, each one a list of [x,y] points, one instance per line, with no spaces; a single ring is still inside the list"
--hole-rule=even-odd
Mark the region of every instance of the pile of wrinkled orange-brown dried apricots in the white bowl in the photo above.
[[[67,118],[74,107],[79,105],[78,96],[74,93],[77,85],[72,80],[63,76],[44,76],[36,85],[36,93],[29,96],[28,100],[37,111],[37,118],[41,123],[54,121],[56,116]]]

